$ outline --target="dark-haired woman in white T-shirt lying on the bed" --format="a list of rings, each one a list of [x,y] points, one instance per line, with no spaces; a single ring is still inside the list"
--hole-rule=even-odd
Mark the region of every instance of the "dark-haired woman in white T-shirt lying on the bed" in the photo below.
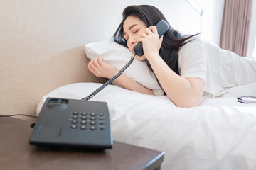
[[[220,96],[234,86],[256,83],[256,62],[221,50],[196,35],[181,35],[174,28],[157,34],[156,23],[166,18],[154,6],[128,6],[114,33],[114,41],[133,48],[142,42],[146,62],[169,99],[179,107],[198,106],[201,97]],[[119,69],[95,58],[88,64],[90,72],[111,79]],[[238,71],[239,70],[239,71]],[[234,75],[235,77],[230,75]],[[245,75],[251,75],[246,77]],[[117,84],[132,91],[154,95],[151,89],[122,74]]]

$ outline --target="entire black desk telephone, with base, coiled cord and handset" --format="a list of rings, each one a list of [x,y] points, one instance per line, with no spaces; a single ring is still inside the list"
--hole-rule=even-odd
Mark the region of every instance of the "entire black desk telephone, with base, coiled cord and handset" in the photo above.
[[[169,29],[169,25],[161,20],[156,28],[161,37]],[[143,55],[142,42],[134,47],[134,52],[135,55]],[[132,64],[134,56],[117,75],[82,100],[47,98],[34,125],[30,144],[47,147],[112,148],[107,103],[88,100],[117,79]]]

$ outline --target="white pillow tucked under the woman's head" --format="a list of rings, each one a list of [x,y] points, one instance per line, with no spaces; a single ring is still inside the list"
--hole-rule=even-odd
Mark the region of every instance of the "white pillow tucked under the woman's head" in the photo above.
[[[89,43],[85,45],[85,53],[90,60],[95,57],[102,57],[107,64],[111,64],[118,69],[122,69],[133,56],[127,47],[123,47],[113,40]],[[164,91],[157,83],[154,73],[151,72],[145,62],[139,61],[137,57],[134,57],[134,61],[123,74],[154,91],[156,96],[164,95]],[[113,84],[115,83],[113,82]]]

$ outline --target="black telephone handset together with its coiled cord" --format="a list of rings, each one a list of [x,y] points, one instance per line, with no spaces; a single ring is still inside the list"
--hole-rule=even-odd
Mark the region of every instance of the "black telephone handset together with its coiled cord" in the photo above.
[[[156,29],[157,29],[157,33],[159,35],[159,38],[161,38],[161,35],[164,35],[164,33],[166,32],[166,30],[169,29],[169,25],[168,23],[166,23],[166,21],[161,20],[159,21],[159,23],[156,24]],[[112,83],[112,81],[114,81],[114,79],[117,79],[117,77],[119,77],[122,72],[124,72],[125,69],[127,69],[127,67],[129,67],[130,64],[132,64],[135,55],[137,56],[142,56],[144,54],[143,52],[143,48],[142,48],[142,42],[139,42],[135,47],[134,47],[134,56],[131,57],[131,60],[119,71],[119,73],[117,75],[115,75],[114,77],[112,77],[112,79],[109,79],[105,84],[102,84],[102,86],[100,86],[98,89],[96,89],[95,91],[92,92],[92,94],[90,94],[89,96],[82,98],[83,101],[88,101],[90,100],[90,98],[92,98],[93,96],[95,96],[98,92],[100,92],[102,89],[105,88],[105,86],[109,85],[110,83]]]

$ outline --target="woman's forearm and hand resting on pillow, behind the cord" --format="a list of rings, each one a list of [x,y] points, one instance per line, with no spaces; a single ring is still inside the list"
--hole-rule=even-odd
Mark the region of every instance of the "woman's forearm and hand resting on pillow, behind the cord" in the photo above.
[[[103,61],[103,58],[95,58],[88,63],[88,69],[90,72],[95,74],[97,77],[105,77],[111,79],[118,72],[119,69],[113,67],[110,64],[107,64]],[[145,86],[137,83],[133,79],[127,77],[125,74],[121,74],[117,79],[114,80],[117,84],[122,86],[124,89],[131,91],[137,91],[142,94],[154,95],[154,92],[151,89],[147,89]]]

